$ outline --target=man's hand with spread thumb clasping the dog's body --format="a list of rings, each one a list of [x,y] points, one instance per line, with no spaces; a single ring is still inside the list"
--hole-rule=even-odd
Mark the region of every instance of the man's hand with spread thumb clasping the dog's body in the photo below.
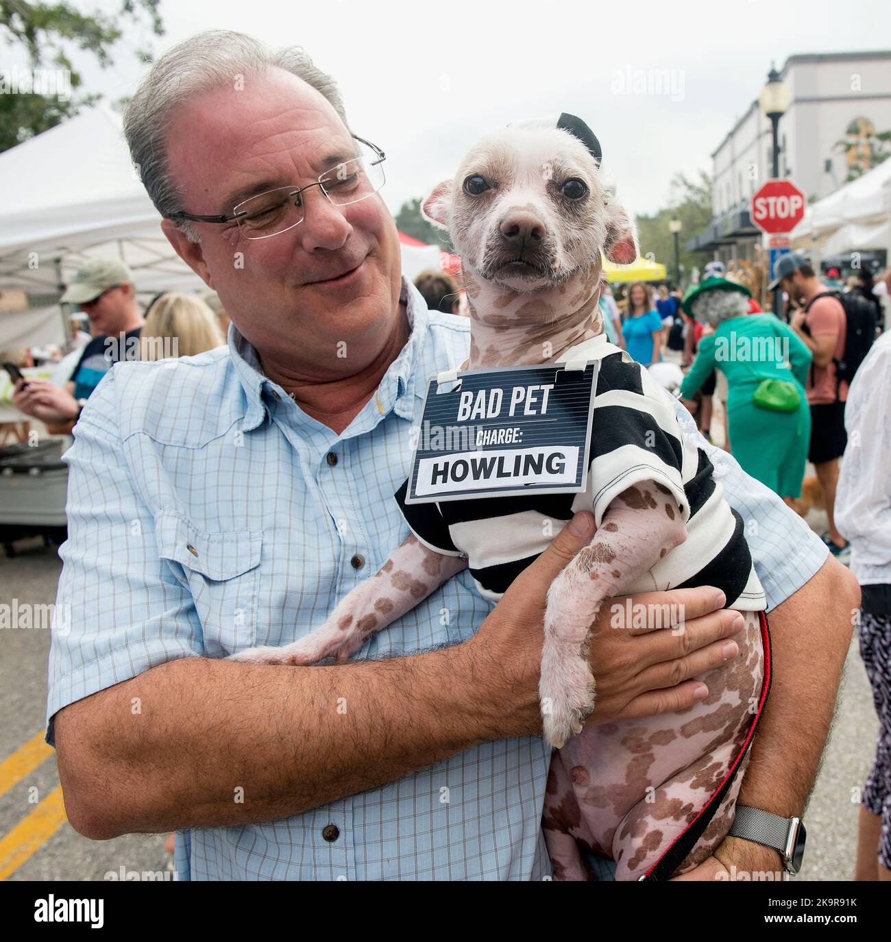
[[[538,677],[548,589],[594,531],[593,516],[577,513],[462,645],[479,683],[481,709],[503,723],[502,737],[541,732]],[[690,678],[734,657],[739,646],[728,639],[745,625],[738,612],[720,608],[725,601],[717,589],[706,586],[604,604],[589,640],[597,705],[586,724],[668,713],[706,696],[705,684]],[[671,613],[669,624],[654,624],[666,612]],[[626,625],[629,616],[632,624]]]

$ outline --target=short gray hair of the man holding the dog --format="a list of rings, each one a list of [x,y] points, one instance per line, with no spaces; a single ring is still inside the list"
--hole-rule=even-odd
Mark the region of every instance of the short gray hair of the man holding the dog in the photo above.
[[[300,46],[271,49],[244,33],[211,29],[173,46],[152,66],[124,112],[124,136],[142,185],[163,217],[180,206],[179,187],[167,161],[166,129],[174,108],[193,95],[282,69],[322,92],[341,121],[346,111],[335,80],[313,65]],[[176,225],[192,242],[200,241],[190,220]]]

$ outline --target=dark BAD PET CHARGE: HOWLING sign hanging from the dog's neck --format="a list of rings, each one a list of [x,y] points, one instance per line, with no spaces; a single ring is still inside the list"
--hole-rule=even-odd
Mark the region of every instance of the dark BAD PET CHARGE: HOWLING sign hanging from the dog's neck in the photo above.
[[[593,360],[431,380],[405,502],[584,491],[599,369]]]

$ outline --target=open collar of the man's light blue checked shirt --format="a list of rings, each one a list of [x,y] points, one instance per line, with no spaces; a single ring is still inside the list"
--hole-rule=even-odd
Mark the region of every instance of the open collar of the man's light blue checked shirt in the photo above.
[[[404,348],[388,366],[375,395],[371,397],[371,402],[356,416],[354,422],[366,413],[369,406],[373,409],[372,414],[378,416],[372,427],[380,417],[390,412],[407,419],[414,417],[415,376],[421,364],[421,350],[427,331],[427,304],[421,292],[404,277],[399,302],[405,304],[411,333]],[[256,429],[265,417],[268,407],[263,400],[264,394],[276,400],[286,394],[277,383],[263,375],[256,349],[239,333],[233,323],[229,324],[227,340],[229,355],[232,357],[247,403],[241,430],[250,431]]]

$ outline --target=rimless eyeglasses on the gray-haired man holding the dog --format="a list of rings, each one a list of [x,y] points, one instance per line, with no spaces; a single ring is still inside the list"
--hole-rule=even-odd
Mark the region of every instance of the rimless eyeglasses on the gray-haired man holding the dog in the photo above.
[[[196,216],[183,210],[171,213],[168,219],[192,219],[195,222],[238,222],[245,238],[269,238],[281,235],[305,219],[304,191],[319,187],[335,206],[349,206],[373,196],[386,183],[381,166],[387,155],[371,141],[359,142],[359,155],[324,171],[316,183],[305,187],[276,187],[239,203],[229,216]]]

